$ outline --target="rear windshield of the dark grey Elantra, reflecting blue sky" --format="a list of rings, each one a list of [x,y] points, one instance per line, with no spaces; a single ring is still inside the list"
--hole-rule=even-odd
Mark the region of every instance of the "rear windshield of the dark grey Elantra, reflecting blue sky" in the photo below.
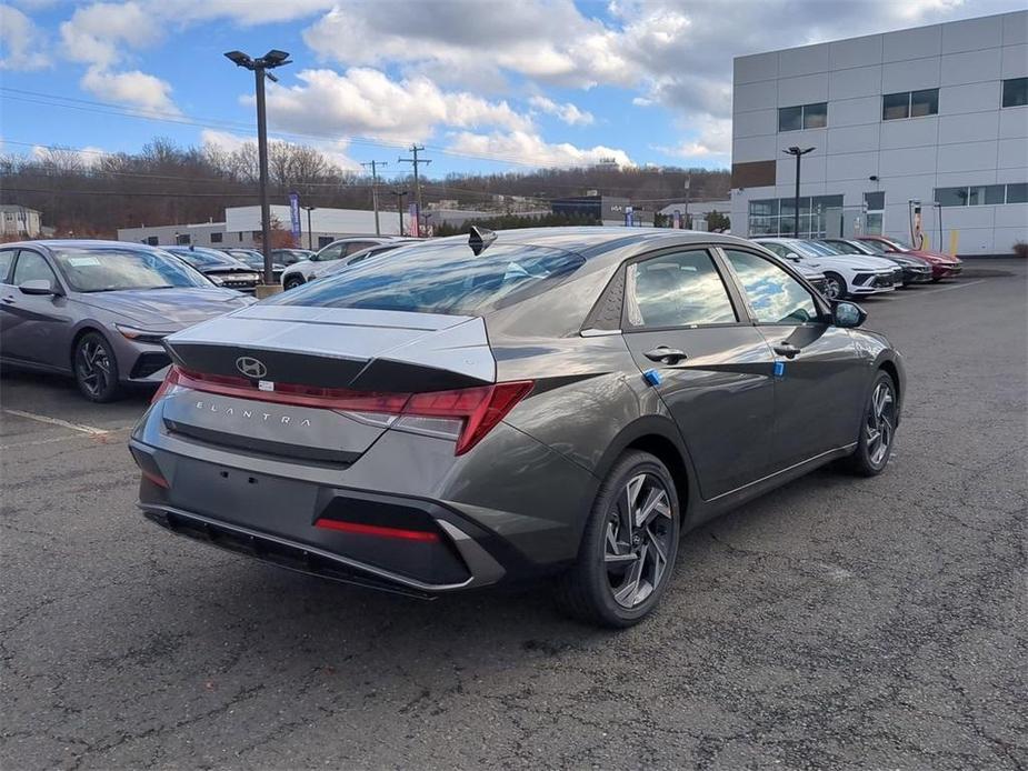
[[[442,241],[397,249],[272,302],[476,314],[533,297],[583,263],[578,254],[517,244],[493,244],[476,257],[467,241]]]

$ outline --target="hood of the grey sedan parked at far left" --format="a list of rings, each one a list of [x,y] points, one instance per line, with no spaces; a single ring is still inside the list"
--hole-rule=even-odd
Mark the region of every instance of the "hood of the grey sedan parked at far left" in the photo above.
[[[253,299],[230,289],[126,289],[116,292],[81,292],[83,306],[124,317],[126,321],[154,330],[177,330],[252,304]]]

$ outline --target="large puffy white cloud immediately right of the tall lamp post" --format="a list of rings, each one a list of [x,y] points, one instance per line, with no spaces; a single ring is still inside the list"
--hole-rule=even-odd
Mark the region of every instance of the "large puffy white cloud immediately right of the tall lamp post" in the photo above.
[[[442,91],[423,76],[395,81],[379,70],[351,68],[302,70],[297,78],[299,86],[268,90],[268,119],[277,129],[407,142],[428,138],[437,126],[531,128],[531,119],[506,101]]]

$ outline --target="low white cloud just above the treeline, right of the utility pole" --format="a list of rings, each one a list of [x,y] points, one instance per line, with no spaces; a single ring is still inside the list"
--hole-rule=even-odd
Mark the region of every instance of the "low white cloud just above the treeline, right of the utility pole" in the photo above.
[[[623,150],[603,146],[578,148],[568,142],[550,144],[539,134],[526,131],[490,134],[463,131],[452,137],[448,150],[535,167],[592,166],[601,161],[613,161],[626,167],[635,166]]]

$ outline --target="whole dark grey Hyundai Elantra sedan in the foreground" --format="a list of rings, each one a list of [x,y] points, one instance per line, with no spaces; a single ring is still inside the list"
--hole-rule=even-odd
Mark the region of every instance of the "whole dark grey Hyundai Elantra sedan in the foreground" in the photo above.
[[[431,597],[551,573],[628,625],[679,533],[832,460],[889,460],[904,366],[741,239],[472,232],[166,340],[130,447],[169,530]]]

